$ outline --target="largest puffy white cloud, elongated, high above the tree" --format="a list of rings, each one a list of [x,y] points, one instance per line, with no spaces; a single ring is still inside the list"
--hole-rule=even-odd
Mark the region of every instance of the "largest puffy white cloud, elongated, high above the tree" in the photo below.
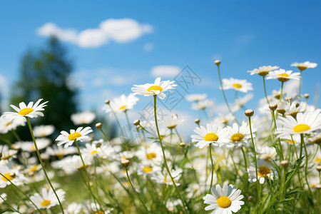
[[[83,48],[102,46],[109,41],[126,43],[149,34],[153,26],[139,24],[133,19],[107,19],[102,21],[96,29],[76,31],[74,29],[61,29],[54,23],[46,23],[37,30],[39,36],[56,36],[62,41],[77,44]]]

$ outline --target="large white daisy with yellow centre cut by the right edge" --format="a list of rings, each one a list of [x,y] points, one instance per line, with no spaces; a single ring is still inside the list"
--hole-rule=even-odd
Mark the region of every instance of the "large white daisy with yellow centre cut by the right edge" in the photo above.
[[[321,113],[320,108],[315,111],[306,111],[305,113],[297,113],[297,120],[292,116],[285,118],[280,117],[281,128],[277,128],[275,133],[278,137],[294,135],[294,134],[308,134],[321,129]]]

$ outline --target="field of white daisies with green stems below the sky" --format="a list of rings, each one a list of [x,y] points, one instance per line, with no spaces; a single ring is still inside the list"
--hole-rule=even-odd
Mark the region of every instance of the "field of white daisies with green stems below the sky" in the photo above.
[[[58,103],[11,103],[0,118],[0,213],[321,213],[321,110],[309,104],[314,95],[301,91],[317,64],[244,71],[248,80],[263,81],[255,91],[260,108],[247,110],[250,81],[222,78],[220,61],[214,66],[229,113],[209,116],[213,101],[189,94],[185,99],[203,115],[190,124],[190,138],[178,132],[183,117],[158,118],[159,102],[178,88],[159,77],[133,85],[128,95],[102,98],[120,133],[113,138],[103,123],[92,123],[94,113],[74,113],[74,126],[61,130],[33,126]],[[291,79],[300,86],[289,96],[283,85]],[[272,94],[269,81],[280,83]],[[226,90],[235,91],[233,106]],[[151,101],[153,119],[129,121],[141,99]],[[126,124],[118,119],[123,114]],[[19,136],[20,126],[32,141]],[[60,134],[53,142],[54,131]]]

